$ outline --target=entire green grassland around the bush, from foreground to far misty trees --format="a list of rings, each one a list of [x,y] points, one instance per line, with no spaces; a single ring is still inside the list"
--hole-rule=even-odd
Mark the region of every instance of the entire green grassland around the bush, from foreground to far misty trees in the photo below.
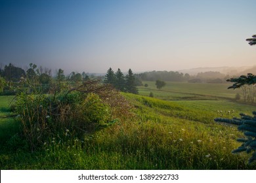
[[[33,152],[16,135],[18,120],[0,118],[1,169],[256,169],[247,164],[248,154],[231,153],[242,133],[213,121],[255,110],[233,100],[240,91],[227,90],[229,84],[167,82],[157,90],[154,82],[145,83],[139,95],[121,93],[133,106],[133,118],[80,139],[49,137]],[[11,100],[0,96],[0,116],[11,114]]]

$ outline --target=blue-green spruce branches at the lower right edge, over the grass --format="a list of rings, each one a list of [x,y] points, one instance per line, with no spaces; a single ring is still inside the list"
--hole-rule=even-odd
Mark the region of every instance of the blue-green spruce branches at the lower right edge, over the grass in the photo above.
[[[256,112],[253,112],[254,116],[248,116],[246,114],[240,114],[241,118],[225,119],[215,118],[215,122],[224,122],[228,124],[238,125],[238,130],[244,131],[245,139],[238,139],[238,142],[243,142],[238,149],[233,150],[232,153],[247,152],[252,153],[249,158],[249,163],[253,163],[256,160]]]

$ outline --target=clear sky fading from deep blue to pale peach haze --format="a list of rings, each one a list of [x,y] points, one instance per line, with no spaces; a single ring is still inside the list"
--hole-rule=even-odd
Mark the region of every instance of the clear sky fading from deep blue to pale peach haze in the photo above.
[[[0,63],[70,73],[256,65],[256,1],[0,0]]]

